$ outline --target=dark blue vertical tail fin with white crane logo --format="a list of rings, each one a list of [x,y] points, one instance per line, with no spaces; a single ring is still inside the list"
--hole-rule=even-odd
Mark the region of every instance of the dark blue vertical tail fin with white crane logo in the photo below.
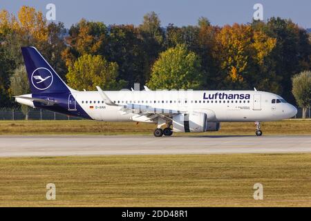
[[[68,93],[69,87],[34,47],[21,48],[31,93]]]

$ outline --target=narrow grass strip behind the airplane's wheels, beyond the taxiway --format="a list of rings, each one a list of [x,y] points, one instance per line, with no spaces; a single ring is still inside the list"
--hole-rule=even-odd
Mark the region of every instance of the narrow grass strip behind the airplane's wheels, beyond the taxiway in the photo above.
[[[95,122],[88,120],[59,121],[0,121],[0,135],[153,135],[155,124]],[[283,120],[263,122],[264,135],[311,135],[311,120]],[[254,135],[254,123],[221,123],[220,131],[207,135]],[[175,133],[174,135],[185,135]],[[187,135],[200,135],[187,133]]]

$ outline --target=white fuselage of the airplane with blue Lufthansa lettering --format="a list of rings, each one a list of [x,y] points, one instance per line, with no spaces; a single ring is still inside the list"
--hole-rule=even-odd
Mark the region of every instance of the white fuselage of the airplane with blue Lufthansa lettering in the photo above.
[[[158,109],[207,113],[210,122],[267,122],[296,115],[296,108],[273,93],[256,90],[105,91],[117,105],[136,104]],[[138,113],[106,105],[98,91],[72,91],[75,101],[95,120],[152,122]],[[249,95],[249,99],[245,99]],[[248,97],[247,97],[248,98]],[[279,99],[284,102],[274,102]]]

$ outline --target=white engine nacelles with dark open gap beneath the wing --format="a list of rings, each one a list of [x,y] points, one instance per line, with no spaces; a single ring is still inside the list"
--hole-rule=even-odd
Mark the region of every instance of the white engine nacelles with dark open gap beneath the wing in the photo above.
[[[207,122],[207,114],[193,112],[189,114],[181,113],[173,116],[174,132],[200,133],[206,131],[219,131],[219,122]]]

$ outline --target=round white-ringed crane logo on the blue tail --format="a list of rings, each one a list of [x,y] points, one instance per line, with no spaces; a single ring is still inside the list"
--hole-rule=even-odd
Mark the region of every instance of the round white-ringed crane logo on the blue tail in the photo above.
[[[37,68],[31,75],[31,82],[38,90],[46,90],[53,83],[53,75],[48,68]]]

